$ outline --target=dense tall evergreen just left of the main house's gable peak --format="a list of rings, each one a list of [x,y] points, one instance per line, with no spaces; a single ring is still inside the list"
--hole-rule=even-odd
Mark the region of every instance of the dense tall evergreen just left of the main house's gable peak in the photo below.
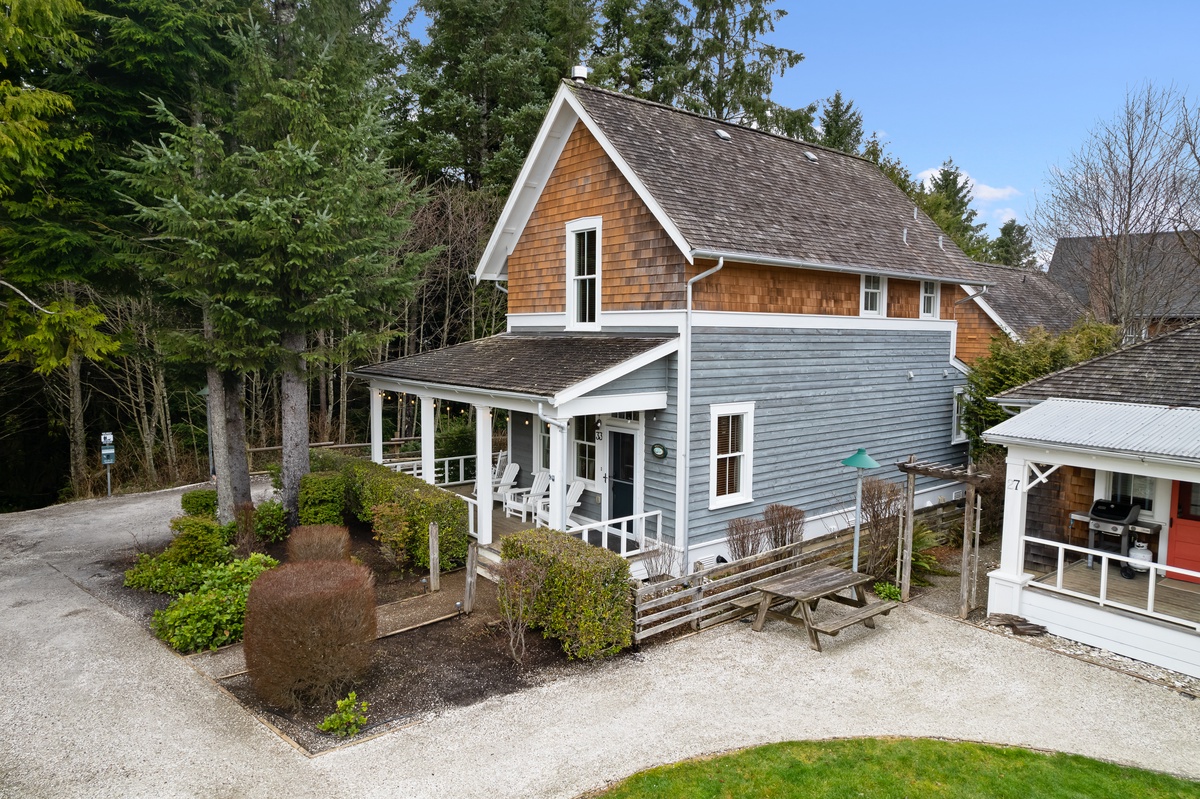
[[[396,156],[427,182],[506,192],[594,25],[593,0],[420,0],[401,26]]]

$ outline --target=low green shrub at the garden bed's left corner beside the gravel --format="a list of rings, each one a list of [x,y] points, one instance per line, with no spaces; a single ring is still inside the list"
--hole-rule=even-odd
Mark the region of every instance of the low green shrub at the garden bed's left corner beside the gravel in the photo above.
[[[179,516],[170,519],[170,529],[175,537],[161,554],[140,554],[137,564],[125,572],[128,588],[182,594],[203,582],[206,569],[233,559],[221,528],[210,518]]]

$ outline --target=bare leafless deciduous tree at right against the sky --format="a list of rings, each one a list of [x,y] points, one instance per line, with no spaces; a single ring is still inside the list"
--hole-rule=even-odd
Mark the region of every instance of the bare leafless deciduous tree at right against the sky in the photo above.
[[[1200,259],[1178,246],[1195,226],[1186,108],[1174,88],[1129,91],[1064,167],[1051,167],[1033,215],[1039,246],[1062,248],[1051,277],[1079,287],[1076,299],[1130,338],[1200,300]]]

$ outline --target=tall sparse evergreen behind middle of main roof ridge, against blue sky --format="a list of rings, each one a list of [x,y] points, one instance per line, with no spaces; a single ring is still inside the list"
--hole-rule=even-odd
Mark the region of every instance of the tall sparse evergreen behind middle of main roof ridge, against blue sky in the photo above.
[[[793,138],[812,138],[816,104],[785,108],[770,100],[775,76],[804,60],[768,44],[787,14],[774,0],[695,0],[683,41],[680,101],[689,110]]]

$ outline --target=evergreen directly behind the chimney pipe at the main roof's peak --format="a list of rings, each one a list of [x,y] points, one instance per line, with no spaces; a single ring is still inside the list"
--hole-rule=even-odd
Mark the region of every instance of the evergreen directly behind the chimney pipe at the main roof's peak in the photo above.
[[[589,79],[634,97],[673,103],[684,58],[679,48],[688,35],[683,13],[679,0],[604,0]]]

